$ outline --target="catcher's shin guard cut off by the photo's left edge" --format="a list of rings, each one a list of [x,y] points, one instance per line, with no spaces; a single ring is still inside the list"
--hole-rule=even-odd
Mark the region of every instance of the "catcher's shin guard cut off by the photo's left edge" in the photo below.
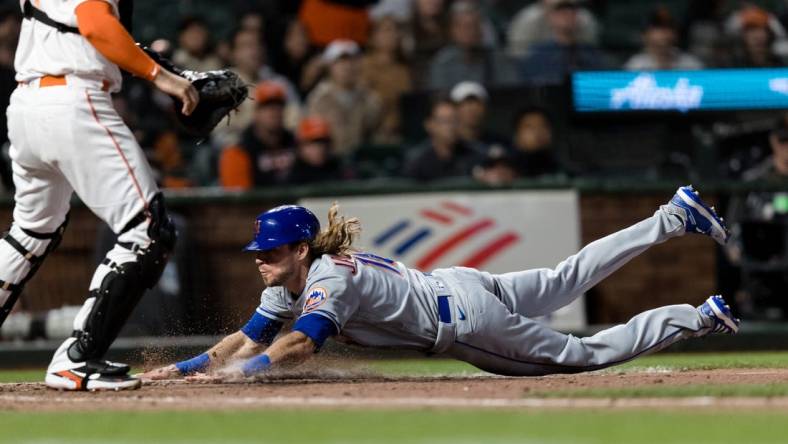
[[[14,308],[27,281],[33,278],[33,275],[36,274],[47,255],[60,245],[67,224],[68,215],[66,215],[66,220],[60,227],[52,233],[38,233],[14,224],[11,230],[3,236],[2,242],[14,250],[11,254],[19,255],[23,258],[21,261],[12,258],[9,260],[10,264],[16,265],[15,262],[18,262],[17,267],[27,268],[27,270],[26,272],[20,271],[20,275],[14,279],[16,282],[12,282],[11,279],[0,280],[0,290],[9,292],[2,307],[0,307],[0,326],[3,325],[3,322],[11,313],[11,309]],[[10,264],[4,265],[8,266]],[[16,268],[13,265],[9,268]],[[10,270],[4,270],[3,272],[9,273]]]

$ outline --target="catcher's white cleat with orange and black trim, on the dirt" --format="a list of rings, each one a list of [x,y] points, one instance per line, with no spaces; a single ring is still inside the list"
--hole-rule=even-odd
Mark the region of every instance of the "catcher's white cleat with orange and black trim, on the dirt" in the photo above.
[[[87,362],[80,367],[47,373],[44,380],[47,387],[60,390],[133,390],[142,385],[142,381],[126,372],[119,372],[117,367],[107,366],[104,362]]]

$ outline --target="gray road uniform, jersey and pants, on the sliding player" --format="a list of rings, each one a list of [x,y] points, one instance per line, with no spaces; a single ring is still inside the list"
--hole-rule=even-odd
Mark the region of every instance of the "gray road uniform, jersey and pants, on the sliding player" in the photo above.
[[[324,255],[312,263],[302,294],[266,289],[257,312],[275,321],[320,315],[360,345],[443,353],[502,375],[600,369],[702,336],[713,320],[691,305],[673,305],[577,338],[532,318],[571,303],[650,246],[683,235],[680,211],[664,205],[555,269],[494,275],[453,267],[425,274],[366,253]]]

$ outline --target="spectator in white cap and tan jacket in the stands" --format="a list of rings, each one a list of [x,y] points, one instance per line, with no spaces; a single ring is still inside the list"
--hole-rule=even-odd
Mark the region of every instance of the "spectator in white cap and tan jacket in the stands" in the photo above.
[[[307,98],[307,113],[326,119],[338,155],[369,142],[380,125],[381,103],[377,94],[361,85],[360,49],[350,40],[336,40],[323,52],[328,79]]]

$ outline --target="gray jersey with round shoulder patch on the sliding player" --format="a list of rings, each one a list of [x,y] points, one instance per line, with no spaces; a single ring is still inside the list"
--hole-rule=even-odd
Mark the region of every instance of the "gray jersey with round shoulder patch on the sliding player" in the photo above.
[[[257,312],[284,321],[306,314],[331,320],[350,342],[372,347],[430,349],[437,302],[427,276],[372,254],[323,255],[312,262],[300,295],[284,287],[263,292]]]

